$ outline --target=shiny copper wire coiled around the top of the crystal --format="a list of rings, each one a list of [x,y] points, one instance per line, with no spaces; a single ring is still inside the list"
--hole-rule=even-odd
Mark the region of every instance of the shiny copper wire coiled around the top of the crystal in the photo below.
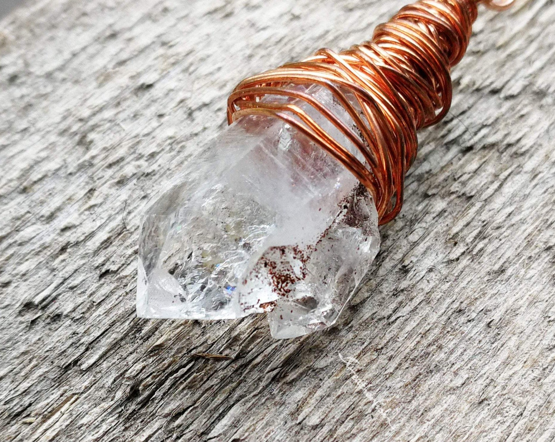
[[[485,0],[492,9],[513,0]],[[380,24],[372,41],[335,53],[320,49],[301,62],[246,78],[228,101],[228,122],[245,115],[285,120],[350,170],[374,197],[380,224],[401,210],[405,174],[415,160],[418,129],[451,105],[450,69],[466,52],[477,0],[421,0]],[[347,127],[299,85],[329,89],[356,125]],[[291,100],[264,100],[285,96]],[[353,98],[354,97],[354,98]],[[319,111],[359,149],[364,162],[326,133],[292,99]]]

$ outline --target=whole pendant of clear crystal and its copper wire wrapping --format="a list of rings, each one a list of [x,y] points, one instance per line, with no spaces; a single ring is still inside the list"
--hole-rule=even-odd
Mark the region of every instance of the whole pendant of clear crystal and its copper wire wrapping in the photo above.
[[[143,218],[138,315],[268,312],[276,338],[334,324],[379,249],[377,224],[401,210],[417,130],[448,112],[478,3],[421,0],[369,42],[241,82],[233,124]]]

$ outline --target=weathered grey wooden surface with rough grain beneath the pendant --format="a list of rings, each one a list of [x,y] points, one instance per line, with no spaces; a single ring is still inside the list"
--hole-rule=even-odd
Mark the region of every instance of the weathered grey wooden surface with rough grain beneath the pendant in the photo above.
[[[236,82],[364,41],[404,3],[43,0],[3,19],[1,440],[555,440],[552,1],[481,14],[337,327],[135,318],[139,215]]]

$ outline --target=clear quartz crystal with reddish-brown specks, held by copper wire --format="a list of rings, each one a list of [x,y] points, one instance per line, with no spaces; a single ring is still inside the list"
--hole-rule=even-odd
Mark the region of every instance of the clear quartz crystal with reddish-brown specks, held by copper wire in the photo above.
[[[307,92],[353,125],[327,89]],[[352,145],[308,104],[294,103]],[[268,312],[274,338],[330,327],[379,250],[377,221],[371,195],[321,147],[281,119],[243,117],[186,163],[143,215],[137,314]]]

